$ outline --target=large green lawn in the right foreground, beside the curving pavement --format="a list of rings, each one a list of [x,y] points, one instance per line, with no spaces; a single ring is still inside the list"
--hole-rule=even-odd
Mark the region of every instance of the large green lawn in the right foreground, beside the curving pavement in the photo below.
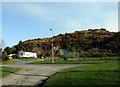
[[[119,61],[120,63],[120,61]],[[117,60],[107,60],[102,64],[86,65],[68,68],[51,76],[43,87],[74,87],[78,85],[120,85],[119,67]],[[100,86],[101,87],[101,86]],[[115,86],[118,87],[118,86]]]

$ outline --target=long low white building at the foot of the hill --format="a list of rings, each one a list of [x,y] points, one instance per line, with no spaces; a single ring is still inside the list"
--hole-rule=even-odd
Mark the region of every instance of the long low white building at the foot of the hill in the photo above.
[[[37,53],[20,51],[19,57],[20,58],[37,58]]]

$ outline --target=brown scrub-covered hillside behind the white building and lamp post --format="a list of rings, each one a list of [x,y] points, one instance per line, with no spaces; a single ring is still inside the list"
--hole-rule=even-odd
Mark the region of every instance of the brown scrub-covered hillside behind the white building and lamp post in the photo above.
[[[31,51],[38,56],[51,56],[51,38],[38,38],[20,41],[15,48],[18,51]],[[79,56],[117,56],[120,55],[120,32],[106,29],[88,29],[73,33],[59,34],[53,37],[54,55],[66,52]]]

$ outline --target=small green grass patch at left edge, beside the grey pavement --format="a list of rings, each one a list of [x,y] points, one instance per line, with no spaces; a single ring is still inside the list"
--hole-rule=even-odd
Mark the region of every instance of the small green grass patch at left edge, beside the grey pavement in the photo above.
[[[5,77],[10,75],[11,73],[17,72],[21,70],[20,68],[12,68],[12,67],[0,67],[0,77]]]

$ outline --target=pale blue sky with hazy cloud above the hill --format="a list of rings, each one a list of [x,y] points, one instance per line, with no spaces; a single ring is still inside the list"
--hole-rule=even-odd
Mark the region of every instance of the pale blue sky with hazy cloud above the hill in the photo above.
[[[20,40],[106,28],[118,31],[117,2],[3,2],[2,29],[7,46]]]

